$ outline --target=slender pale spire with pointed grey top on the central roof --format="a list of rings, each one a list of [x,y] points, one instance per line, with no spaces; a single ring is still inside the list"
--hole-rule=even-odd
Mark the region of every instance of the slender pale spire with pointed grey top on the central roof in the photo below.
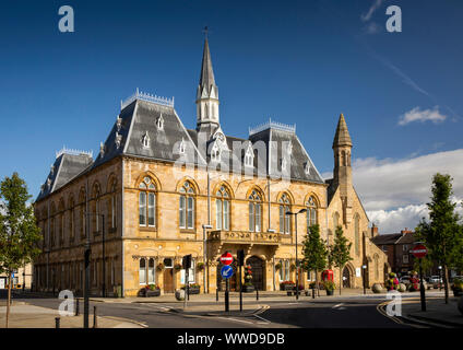
[[[215,84],[207,38],[204,42],[200,84],[197,90],[197,131],[205,132],[207,139],[219,127],[218,88]]]

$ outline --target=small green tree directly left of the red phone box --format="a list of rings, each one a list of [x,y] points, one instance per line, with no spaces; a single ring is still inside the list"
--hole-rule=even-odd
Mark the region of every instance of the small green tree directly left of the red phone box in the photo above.
[[[324,242],[320,237],[320,226],[318,224],[309,228],[309,233],[302,242],[302,266],[306,271],[316,272],[316,284],[318,295],[320,295],[320,287],[318,282],[318,271],[327,267],[328,249]]]

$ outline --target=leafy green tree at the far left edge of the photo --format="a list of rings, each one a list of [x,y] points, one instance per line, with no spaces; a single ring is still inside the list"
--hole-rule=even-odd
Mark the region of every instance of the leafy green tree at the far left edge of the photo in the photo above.
[[[39,254],[39,229],[33,207],[27,203],[32,196],[25,182],[13,173],[0,184],[0,268],[8,276],[7,328],[11,303],[11,275],[32,261]]]

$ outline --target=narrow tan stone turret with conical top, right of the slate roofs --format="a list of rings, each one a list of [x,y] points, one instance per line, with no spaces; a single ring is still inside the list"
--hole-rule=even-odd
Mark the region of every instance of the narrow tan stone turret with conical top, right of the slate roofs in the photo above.
[[[343,203],[343,222],[346,225],[352,221],[352,203],[354,195],[354,187],[352,184],[351,151],[351,136],[348,135],[344,115],[341,114],[333,140],[333,183],[340,189],[340,196]]]

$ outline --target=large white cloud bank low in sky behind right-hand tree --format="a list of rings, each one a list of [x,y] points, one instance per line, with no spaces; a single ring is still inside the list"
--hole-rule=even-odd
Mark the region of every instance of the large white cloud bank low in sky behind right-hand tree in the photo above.
[[[353,164],[355,188],[368,217],[382,233],[414,229],[427,217],[432,176],[450,174],[454,201],[463,214],[463,149],[404,160],[358,159]]]

